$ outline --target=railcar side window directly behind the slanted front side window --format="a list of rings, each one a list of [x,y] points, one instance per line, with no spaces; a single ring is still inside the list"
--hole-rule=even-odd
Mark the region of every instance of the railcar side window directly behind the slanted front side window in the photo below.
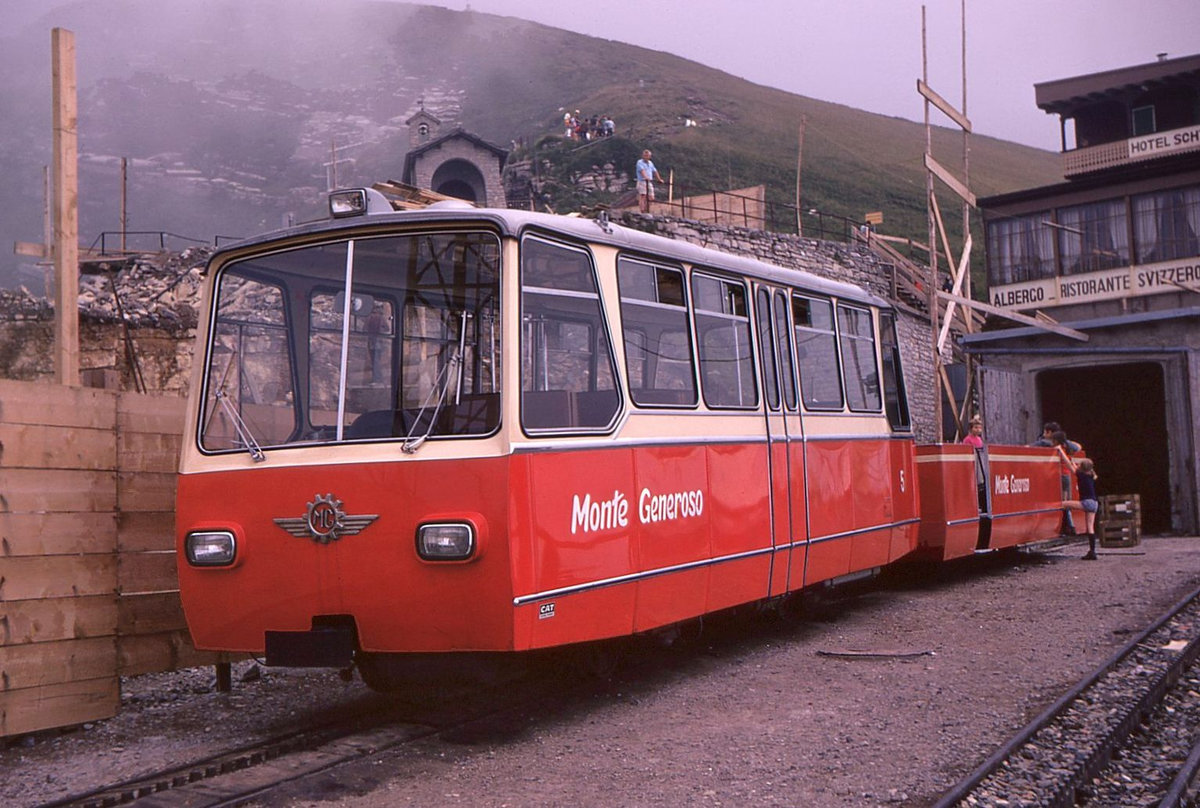
[[[683,271],[623,257],[617,261],[617,283],[634,403],[695,405],[696,370]]]

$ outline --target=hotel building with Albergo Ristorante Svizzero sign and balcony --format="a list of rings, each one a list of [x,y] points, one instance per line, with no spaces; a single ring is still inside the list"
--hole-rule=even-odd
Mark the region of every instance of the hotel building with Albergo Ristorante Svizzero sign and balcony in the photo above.
[[[1063,181],[979,200],[989,301],[1056,321],[966,335],[992,439],[1060,421],[1148,531],[1195,534],[1200,55],[1038,84]]]

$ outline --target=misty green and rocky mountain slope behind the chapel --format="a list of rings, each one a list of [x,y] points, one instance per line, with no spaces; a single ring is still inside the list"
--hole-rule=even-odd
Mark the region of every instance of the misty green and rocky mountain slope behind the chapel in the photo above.
[[[18,275],[8,245],[42,240],[54,26],[76,36],[84,245],[106,231],[114,244],[122,157],[131,246],[211,244],[319,215],[331,157],[342,186],[400,179],[404,121],[422,103],[504,148],[558,134],[564,108],[608,114],[622,140],[611,154],[650,145],[680,185],[763,182],[776,202],[794,198],[804,116],[805,207],[852,217],[883,210],[886,232],[925,237],[923,127],[670,54],[373,0],[30,6],[0,0],[0,286],[19,277],[41,291],[30,263]],[[944,163],[960,160],[960,142],[937,132]],[[1057,178],[1056,155],[991,138],[973,138],[971,161],[979,194]]]

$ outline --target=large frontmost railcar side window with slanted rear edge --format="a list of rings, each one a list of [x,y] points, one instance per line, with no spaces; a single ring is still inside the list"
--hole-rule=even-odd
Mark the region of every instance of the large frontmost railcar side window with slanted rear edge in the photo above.
[[[521,243],[521,425],[529,432],[600,431],[620,409],[592,255]]]

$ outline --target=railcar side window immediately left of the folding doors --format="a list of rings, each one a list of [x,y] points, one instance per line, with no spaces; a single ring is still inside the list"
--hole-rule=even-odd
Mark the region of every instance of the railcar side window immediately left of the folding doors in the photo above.
[[[718,408],[758,406],[745,286],[692,273],[691,295],[704,403]]]

